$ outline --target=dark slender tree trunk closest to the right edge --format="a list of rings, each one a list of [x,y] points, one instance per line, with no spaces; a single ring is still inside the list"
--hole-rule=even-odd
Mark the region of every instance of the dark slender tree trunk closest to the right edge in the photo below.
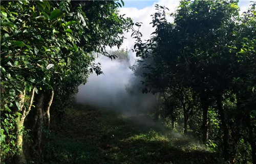
[[[245,108],[244,111],[245,111],[245,124],[249,132],[248,141],[251,146],[252,163],[256,163],[256,142],[253,136],[253,127],[251,125],[251,120],[250,120],[250,110],[248,108]]]

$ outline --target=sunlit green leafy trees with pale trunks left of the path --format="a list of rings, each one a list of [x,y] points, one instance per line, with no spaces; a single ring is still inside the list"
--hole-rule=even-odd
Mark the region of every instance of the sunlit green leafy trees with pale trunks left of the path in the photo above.
[[[51,104],[51,113],[61,113],[91,72],[102,73],[92,52],[113,58],[106,46],[119,48],[130,29],[120,3],[1,1],[2,162],[40,157]]]

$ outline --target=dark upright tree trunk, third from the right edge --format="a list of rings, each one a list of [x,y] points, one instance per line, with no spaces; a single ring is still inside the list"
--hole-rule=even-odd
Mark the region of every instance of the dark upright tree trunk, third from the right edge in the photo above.
[[[203,110],[203,123],[202,123],[202,133],[203,133],[203,142],[207,142],[209,138],[209,131],[208,131],[208,107],[209,103],[205,95],[200,95],[202,110]]]

